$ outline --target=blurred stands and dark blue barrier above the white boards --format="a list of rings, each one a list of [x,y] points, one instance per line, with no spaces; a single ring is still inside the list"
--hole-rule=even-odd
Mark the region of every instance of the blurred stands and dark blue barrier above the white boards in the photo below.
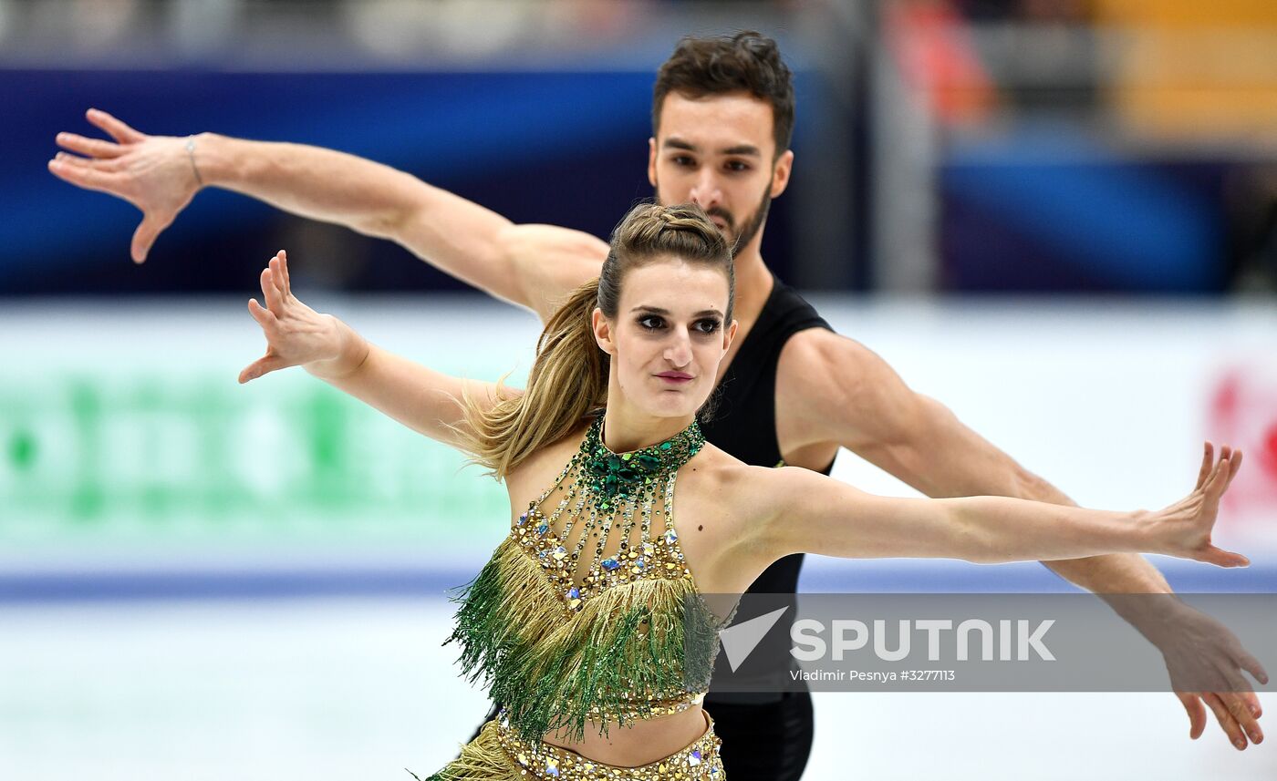
[[[799,74],[765,257],[805,290],[1277,290],[1269,0],[0,0],[0,294],[238,291],[277,245],[324,248],[337,290],[456,287],[217,195],[157,248],[186,260],[138,273],[100,251],[126,246],[128,207],[34,165],[89,105],[337,147],[605,235],[649,193],[655,68],[682,34],[748,27]]]

